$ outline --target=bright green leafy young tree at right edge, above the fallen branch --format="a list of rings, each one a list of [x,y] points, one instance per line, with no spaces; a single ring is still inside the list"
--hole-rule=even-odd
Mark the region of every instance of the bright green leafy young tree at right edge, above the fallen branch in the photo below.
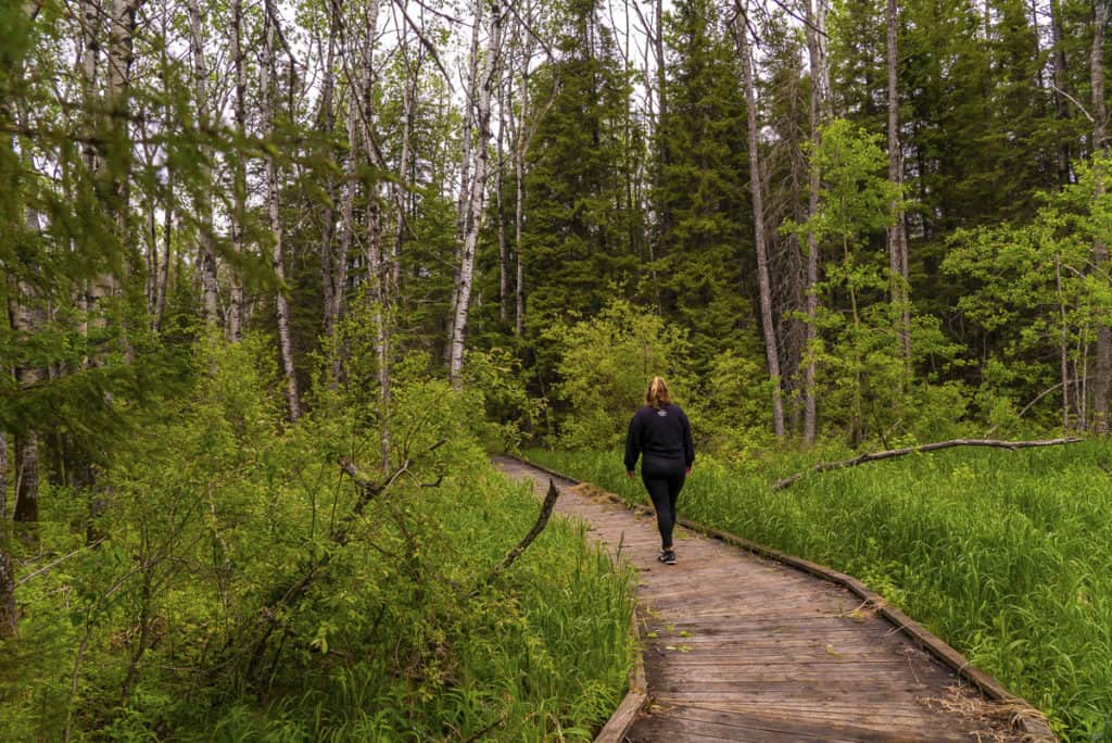
[[[1103,158],[1079,164],[1078,184],[1048,196],[1029,222],[959,230],[951,239],[942,268],[970,287],[957,309],[993,349],[981,361],[979,405],[1004,430],[1019,425],[1029,400],[1063,383],[1070,406],[1062,393],[1048,396],[1034,420],[1061,425],[1064,408],[1075,425],[1086,424],[1083,398],[1062,378],[1061,364],[1078,374],[1112,313],[1109,281],[1090,270],[1093,241],[1112,237],[1112,198],[1096,196],[1105,167]]]

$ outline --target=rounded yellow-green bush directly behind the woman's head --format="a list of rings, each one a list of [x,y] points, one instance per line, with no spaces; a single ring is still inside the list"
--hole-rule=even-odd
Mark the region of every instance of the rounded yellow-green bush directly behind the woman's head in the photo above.
[[[616,444],[656,375],[667,379],[681,405],[695,389],[683,329],[627,301],[615,300],[575,325],[553,326],[545,337],[560,353],[560,382],[553,394],[566,406],[565,446]]]

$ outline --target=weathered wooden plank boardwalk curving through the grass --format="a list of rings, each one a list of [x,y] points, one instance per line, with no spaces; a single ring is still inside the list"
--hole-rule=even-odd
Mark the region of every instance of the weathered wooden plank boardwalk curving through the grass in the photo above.
[[[496,464],[547,488],[538,469]],[[639,572],[648,702],[625,740],[1046,740],[1024,732],[1014,705],[984,699],[846,588],[683,528],[679,563],[664,565],[652,516],[556,485],[556,512],[620,545]]]

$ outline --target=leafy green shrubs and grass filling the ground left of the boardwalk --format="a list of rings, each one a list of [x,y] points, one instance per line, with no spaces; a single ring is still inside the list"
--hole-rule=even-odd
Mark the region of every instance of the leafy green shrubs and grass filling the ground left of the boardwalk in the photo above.
[[[373,412],[285,426],[265,350],[201,356],[98,491],[43,487],[0,535],[0,739],[589,740],[626,691],[632,575],[553,521],[492,578],[539,502],[468,428],[481,400],[399,380],[398,474],[365,498],[337,456],[383,477]]]

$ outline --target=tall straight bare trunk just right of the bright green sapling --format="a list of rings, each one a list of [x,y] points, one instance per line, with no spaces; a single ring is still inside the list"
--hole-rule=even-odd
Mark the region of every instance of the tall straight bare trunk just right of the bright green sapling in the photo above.
[[[887,2],[887,68],[888,68],[888,180],[903,191],[903,151],[900,146],[900,76],[898,14],[896,0]],[[911,313],[907,307],[907,234],[900,197],[892,202],[895,222],[888,228],[888,268],[891,270],[892,305],[900,316],[900,341],[904,366],[911,371]]]

